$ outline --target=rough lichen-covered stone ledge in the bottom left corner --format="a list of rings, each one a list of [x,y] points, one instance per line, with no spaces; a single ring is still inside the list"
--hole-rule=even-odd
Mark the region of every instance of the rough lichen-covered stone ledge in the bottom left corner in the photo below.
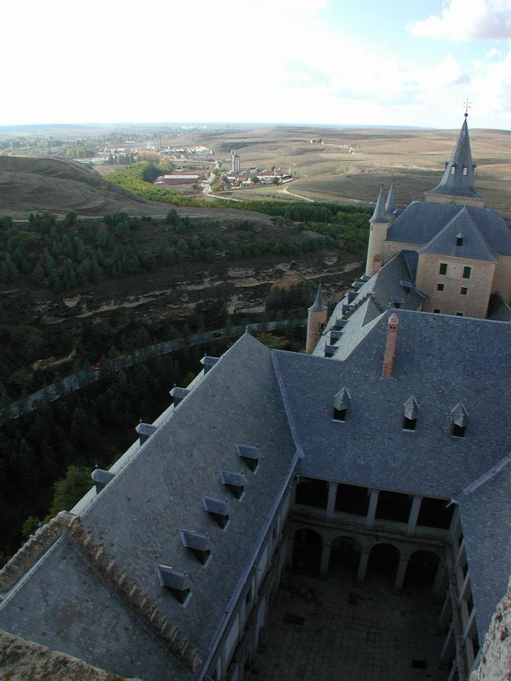
[[[0,630],[0,679],[3,681],[140,681],[123,679]]]

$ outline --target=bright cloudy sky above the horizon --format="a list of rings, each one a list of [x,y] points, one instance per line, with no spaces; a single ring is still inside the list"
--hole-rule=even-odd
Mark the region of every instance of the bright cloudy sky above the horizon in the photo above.
[[[511,128],[511,0],[4,1],[0,125]]]

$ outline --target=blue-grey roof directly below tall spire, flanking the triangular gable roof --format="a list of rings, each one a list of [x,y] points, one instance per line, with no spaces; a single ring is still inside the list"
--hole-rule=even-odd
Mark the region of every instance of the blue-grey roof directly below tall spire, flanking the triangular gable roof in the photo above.
[[[488,248],[500,255],[511,255],[511,230],[497,211],[466,206],[468,214]],[[446,226],[460,212],[458,204],[435,204],[413,201],[387,230],[387,241],[424,244]]]

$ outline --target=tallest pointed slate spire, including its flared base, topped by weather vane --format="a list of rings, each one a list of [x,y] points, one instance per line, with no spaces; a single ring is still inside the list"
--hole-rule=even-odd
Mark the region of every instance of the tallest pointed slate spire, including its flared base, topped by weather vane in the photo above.
[[[467,116],[461,126],[451,160],[446,161],[444,175],[439,184],[424,192],[426,201],[439,204],[461,204],[462,206],[483,206],[484,199],[476,192],[470,139],[468,138]]]

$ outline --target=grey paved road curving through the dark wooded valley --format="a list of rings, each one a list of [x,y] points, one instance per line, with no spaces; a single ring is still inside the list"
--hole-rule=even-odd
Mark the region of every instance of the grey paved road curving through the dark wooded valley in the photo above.
[[[293,324],[300,324],[300,326],[307,326],[307,319],[284,319],[282,321],[268,321],[261,324],[250,324],[250,326],[231,326],[229,328],[216,328],[213,331],[202,331],[201,333],[195,333],[194,336],[190,338],[175,338],[172,341],[163,341],[163,343],[156,343],[155,345],[148,345],[147,348],[142,350],[136,350],[134,353],[121,355],[119,358],[114,360],[114,370],[125,369],[126,367],[131,367],[138,362],[142,362],[148,357],[155,357],[158,355],[167,355],[168,353],[173,353],[175,350],[182,350],[182,348],[191,348],[194,345],[201,345],[202,343],[208,343],[209,341],[216,341],[221,338],[239,338],[246,328],[250,328],[251,331],[274,331],[277,328],[285,328],[286,326],[292,326]],[[24,405],[24,411],[33,411],[38,409],[43,400],[48,400],[49,402],[55,402],[56,399],[62,397],[62,394],[67,394],[68,392],[73,392],[78,390],[90,383],[99,380],[101,378],[101,369],[96,372],[90,370],[84,370],[74,374],[70,374],[62,379],[60,385],[55,383],[48,385],[47,387],[34,392],[26,399],[26,404]],[[11,404],[11,412],[13,418],[18,418],[20,414],[20,404],[19,402],[13,402]]]

